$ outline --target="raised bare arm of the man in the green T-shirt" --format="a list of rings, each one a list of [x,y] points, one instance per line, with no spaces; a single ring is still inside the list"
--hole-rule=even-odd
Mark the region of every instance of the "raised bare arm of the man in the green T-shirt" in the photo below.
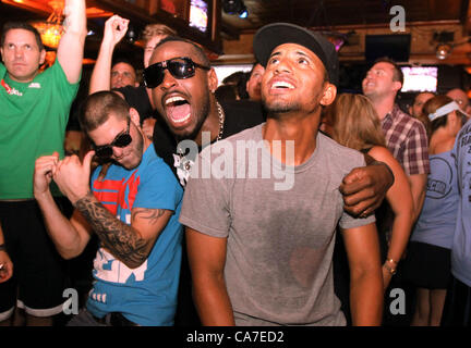
[[[57,59],[71,84],[80,80],[86,37],[85,0],[65,0],[64,30]]]

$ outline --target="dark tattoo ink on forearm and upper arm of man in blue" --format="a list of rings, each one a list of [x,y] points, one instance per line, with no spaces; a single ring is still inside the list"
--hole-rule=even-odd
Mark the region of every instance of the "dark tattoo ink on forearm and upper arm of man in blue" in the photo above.
[[[77,200],[75,208],[88,221],[104,247],[129,268],[137,268],[147,259],[150,240],[142,238],[131,225],[113,216],[93,194]],[[164,212],[161,209],[137,208],[133,210],[132,221],[138,217],[157,224]]]

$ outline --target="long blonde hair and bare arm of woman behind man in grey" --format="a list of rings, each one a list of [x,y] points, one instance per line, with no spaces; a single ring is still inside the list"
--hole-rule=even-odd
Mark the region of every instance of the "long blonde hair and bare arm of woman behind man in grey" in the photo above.
[[[394,212],[391,238],[384,252],[383,283],[386,289],[402,258],[412,228],[413,201],[409,181],[399,162],[386,148],[379,117],[371,101],[361,95],[342,94],[326,111],[325,132],[342,146],[385,162],[392,171],[395,183],[386,194]]]

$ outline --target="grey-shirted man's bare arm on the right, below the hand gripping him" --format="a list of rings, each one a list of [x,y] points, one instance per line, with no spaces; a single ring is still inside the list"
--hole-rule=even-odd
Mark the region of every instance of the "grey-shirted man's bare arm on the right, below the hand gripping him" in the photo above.
[[[355,326],[381,325],[383,278],[376,224],[342,231],[350,268],[350,307]]]

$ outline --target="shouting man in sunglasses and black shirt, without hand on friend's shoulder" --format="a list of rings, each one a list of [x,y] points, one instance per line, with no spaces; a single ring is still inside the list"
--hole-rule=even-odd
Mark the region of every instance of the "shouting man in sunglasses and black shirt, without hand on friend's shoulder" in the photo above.
[[[194,42],[174,36],[162,39],[144,70],[144,84],[170,132],[154,128],[154,145],[185,185],[196,152],[185,153],[179,145],[192,140],[197,150],[205,145],[203,133],[214,142],[264,121],[262,105],[217,101],[217,76],[206,53]],[[172,136],[169,138],[169,134]]]

